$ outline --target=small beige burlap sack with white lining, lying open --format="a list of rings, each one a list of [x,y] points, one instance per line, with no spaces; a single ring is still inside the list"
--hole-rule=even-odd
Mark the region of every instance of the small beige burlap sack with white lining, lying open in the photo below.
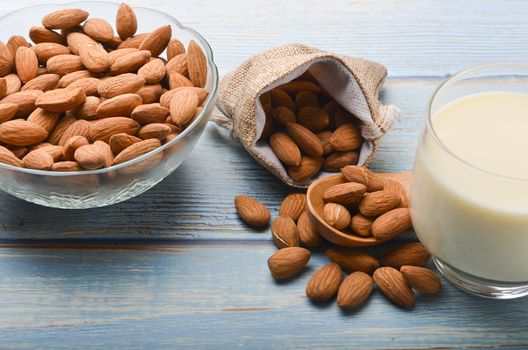
[[[225,75],[218,89],[220,114],[213,121],[231,129],[246,150],[266,169],[286,184],[305,188],[315,178],[293,181],[266,141],[258,141],[265,124],[260,95],[299,77],[306,70],[345,109],[361,121],[365,140],[358,165],[366,166],[374,157],[379,139],[397,115],[397,108],[378,100],[387,70],[379,63],[347,57],[304,45],[286,45],[249,58]],[[330,175],[320,172],[318,178]]]

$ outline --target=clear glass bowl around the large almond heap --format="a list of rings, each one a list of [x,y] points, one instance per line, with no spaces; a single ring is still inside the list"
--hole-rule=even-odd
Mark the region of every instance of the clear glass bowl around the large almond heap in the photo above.
[[[90,17],[115,23],[119,4],[81,1],[67,4],[46,4],[26,7],[0,17],[0,39],[7,42],[11,35],[27,37],[29,28],[41,25],[46,14],[63,8],[82,8]],[[173,17],[143,7],[134,7],[138,18],[137,33],[152,31],[170,24],[173,38],[185,45],[194,40],[207,57],[209,96],[203,111],[177,137],[141,157],[99,170],[52,172],[18,168],[0,163],[0,190],[28,202],[47,207],[80,209],[102,207],[135,197],[171,174],[187,158],[204,131],[216,100],[218,71],[207,41],[196,31],[183,26]]]

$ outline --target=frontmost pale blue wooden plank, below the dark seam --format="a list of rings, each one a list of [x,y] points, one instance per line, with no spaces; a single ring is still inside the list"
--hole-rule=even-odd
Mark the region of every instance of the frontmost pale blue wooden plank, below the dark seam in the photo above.
[[[103,247],[99,247],[103,248]],[[112,249],[111,249],[112,248]],[[403,311],[378,291],[357,312],[276,283],[271,242],[120,249],[0,248],[1,347],[434,348],[528,344],[528,299],[478,299],[444,283]],[[130,248],[130,247],[128,247]],[[445,282],[445,281],[444,281]]]

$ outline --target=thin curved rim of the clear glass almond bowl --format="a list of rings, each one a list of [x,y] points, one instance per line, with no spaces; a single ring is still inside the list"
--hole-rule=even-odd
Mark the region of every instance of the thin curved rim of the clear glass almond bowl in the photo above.
[[[47,7],[55,7],[57,9],[60,9],[60,8],[66,8],[66,7],[72,7],[72,6],[78,6],[78,7],[82,8],[82,6],[83,5],[86,6],[86,4],[112,5],[112,6],[114,6],[116,8],[116,10],[119,7],[119,3],[110,2],[110,1],[73,1],[73,2],[60,3],[60,4],[57,4],[57,3],[54,3],[54,4],[53,3],[44,3],[44,4],[38,4],[38,5],[32,5],[32,6],[25,6],[25,7],[21,7],[21,8],[18,8],[16,10],[13,10],[11,12],[8,12],[8,13],[0,16],[0,24],[1,24],[2,20],[4,20],[4,18],[10,17],[12,15],[18,15],[18,14],[23,13],[24,11],[28,11],[30,9],[47,8]],[[207,40],[205,40],[205,38],[198,31],[196,31],[196,30],[194,30],[194,29],[192,29],[190,27],[184,26],[180,21],[178,21],[176,18],[172,17],[169,14],[163,13],[163,12],[158,11],[158,10],[153,9],[153,8],[143,7],[143,6],[133,6],[132,8],[133,9],[141,9],[141,10],[145,10],[145,11],[154,12],[156,15],[158,15],[160,17],[168,18],[171,21],[171,24],[175,23],[176,26],[179,29],[181,29],[182,31],[191,33],[194,36],[193,39],[198,40],[202,44],[203,48],[205,49],[205,56],[206,56],[207,66],[212,68],[213,79],[212,79],[211,91],[209,92],[205,102],[203,103],[203,109],[200,112],[200,114],[198,115],[198,117],[196,117],[193,120],[193,122],[190,125],[188,125],[175,138],[173,138],[169,142],[161,145],[160,147],[158,147],[158,148],[156,148],[156,149],[154,149],[154,150],[152,150],[152,151],[150,151],[148,153],[145,153],[145,154],[143,154],[143,155],[141,155],[141,156],[139,156],[137,158],[131,159],[129,161],[126,161],[126,162],[123,162],[123,163],[120,163],[120,164],[112,165],[112,166],[109,166],[109,167],[106,167],[106,168],[97,169],[97,170],[79,170],[79,171],[51,171],[51,170],[36,170],[36,169],[22,168],[22,167],[17,167],[17,166],[13,166],[13,165],[10,165],[10,164],[6,164],[6,163],[1,163],[0,162],[0,169],[12,170],[12,171],[17,171],[17,172],[26,173],[26,174],[32,174],[32,175],[59,176],[59,177],[62,177],[62,176],[106,174],[106,173],[109,173],[111,171],[115,171],[115,170],[118,170],[118,169],[121,169],[121,168],[125,168],[125,167],[127,167],[129,165],[134,165],[136,163],[142,162],[142,161],[144,161],[146,159],[149,159],[149,158],[155,156],[156,154],[158,154],[160,152],[163,152],[165,149],[175,145],[176,143],[178,143],[181,140],[184,140],[189,134],[192,133],[192,131],[194,131],[198,127],[198,125],[200,125],[200,123],[203,121],[203,119],[207,119],[206,111],[210,107],[214,108],[214,101],[215,101],[215,97],[216,97],[217,90],[218,90],[218,80],[219,80],[218,68],[216,67],[216,64],[214,63],[214,59],[213,59],[213,50],[211,49],[211,46],[209,45]],[[213,106],[211,106],[211,105],[213,105]]]

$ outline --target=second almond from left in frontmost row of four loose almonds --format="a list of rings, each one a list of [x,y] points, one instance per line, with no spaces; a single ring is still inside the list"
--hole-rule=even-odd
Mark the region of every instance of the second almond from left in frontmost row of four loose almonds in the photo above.
[[[342,309],[355,309],[369,297],[374,287],[372,277],[357,271],[348,275],[337,291],[337,305]]]

